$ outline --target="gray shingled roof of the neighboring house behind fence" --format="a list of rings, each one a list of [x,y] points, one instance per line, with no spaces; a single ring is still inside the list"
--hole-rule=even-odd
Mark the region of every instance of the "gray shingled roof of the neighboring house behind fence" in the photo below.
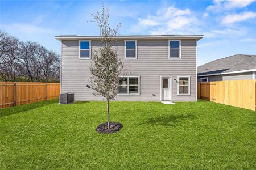
[[[197,67],[197,76],[256,71],[256,56],[236,54]]]

